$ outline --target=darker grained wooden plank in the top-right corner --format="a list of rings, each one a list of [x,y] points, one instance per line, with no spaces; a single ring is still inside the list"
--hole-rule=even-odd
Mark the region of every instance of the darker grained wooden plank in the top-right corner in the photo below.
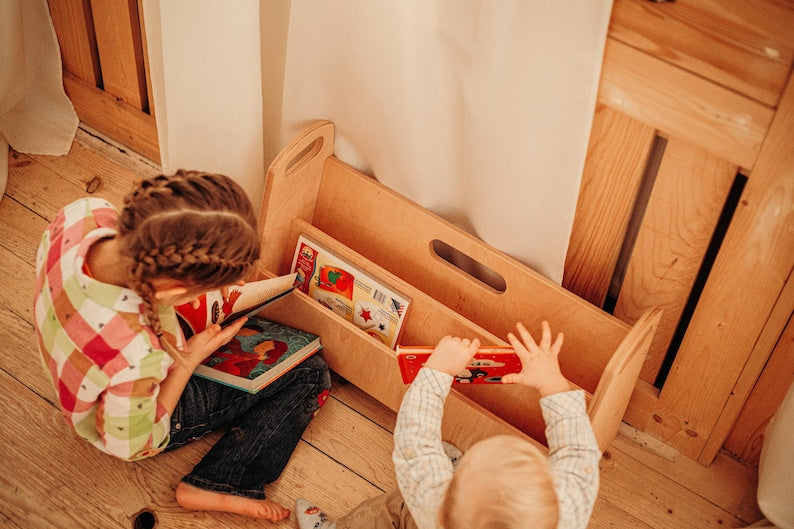
[[[779,0],[615,0],[609,36],[765,105],[794,61],[794,4]]]

